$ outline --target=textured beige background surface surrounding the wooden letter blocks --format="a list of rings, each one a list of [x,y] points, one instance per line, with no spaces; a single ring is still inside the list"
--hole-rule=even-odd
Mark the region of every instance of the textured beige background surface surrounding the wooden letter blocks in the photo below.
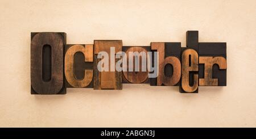
[[[256,127],[256,1],[0,1],[0,127]],[[227,42],[228,86],[123,85],[30,95],[30,32],[66,32],[68,44]]]

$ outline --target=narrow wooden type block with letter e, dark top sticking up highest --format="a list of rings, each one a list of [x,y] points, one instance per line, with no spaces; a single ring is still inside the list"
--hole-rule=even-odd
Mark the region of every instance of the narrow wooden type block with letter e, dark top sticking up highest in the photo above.
[[[198,92],[198,31],[187,31],[186,48],[181,48],[181,85],[180,92]],[[188,50],[187,50],[188,49]],[[184,53],[185,52],[185,53]],[[184,66],[184,67],[183,67]],[[188,68],[189,70],[187,70]],[[183,81],[184,79],[184,81]],[[184,90],[185,89],[185,90]]]

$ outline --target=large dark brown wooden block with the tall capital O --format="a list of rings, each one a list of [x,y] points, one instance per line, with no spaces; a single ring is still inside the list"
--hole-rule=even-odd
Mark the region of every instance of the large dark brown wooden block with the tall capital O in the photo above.
[[[65,94],[66,33],[31,33],[31,94]]]

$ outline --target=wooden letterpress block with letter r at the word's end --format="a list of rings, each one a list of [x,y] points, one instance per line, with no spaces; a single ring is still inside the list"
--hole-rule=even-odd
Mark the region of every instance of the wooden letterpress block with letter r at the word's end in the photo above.
[[[226,43],[199,43],[199,86],[226,86]]]

